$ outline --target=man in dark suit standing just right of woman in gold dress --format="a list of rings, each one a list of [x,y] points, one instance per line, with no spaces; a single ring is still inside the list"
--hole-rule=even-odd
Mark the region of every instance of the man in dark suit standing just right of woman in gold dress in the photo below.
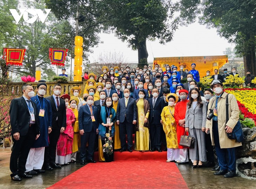
[[[161,113],[164,108],[164,100],[159,97],[159,92],[157,88],[152,90],[153,98],[148,100],[150,105],[149,113],[149,132],[150,132],[150,143],[151,143],[151,152],[161,150]]]

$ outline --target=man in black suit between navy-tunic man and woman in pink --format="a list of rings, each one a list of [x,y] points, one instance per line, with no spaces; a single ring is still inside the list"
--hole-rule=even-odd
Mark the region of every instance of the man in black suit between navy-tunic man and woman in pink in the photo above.
[[[66,128],[66,105],[65,101],[60,98],[61,85],[55,84],[53,86],[53,95],[47,97],[50,100],[53,112],[52,119],[52,132],[49,133],[49,146],[45,147],[45,169],[53,170],[53,168],[61,168],[60,165],[55,163],[56,159],[56,145],[60,137],[60,133],[63,133]]]

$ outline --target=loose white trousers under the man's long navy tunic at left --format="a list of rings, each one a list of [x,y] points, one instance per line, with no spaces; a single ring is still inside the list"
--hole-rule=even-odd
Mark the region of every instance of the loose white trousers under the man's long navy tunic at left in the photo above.
[[[30,148],[26,162],[26,172],[33,169],[42,169],[45,154],[45,147]]]

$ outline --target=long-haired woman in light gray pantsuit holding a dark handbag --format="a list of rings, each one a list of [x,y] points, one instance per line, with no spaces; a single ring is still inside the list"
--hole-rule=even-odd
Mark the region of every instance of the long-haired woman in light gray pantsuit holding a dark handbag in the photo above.
[[[189,156],[193,162],[193,167],[202,167],[206,161],[206,102],[201,99],[200,91],[193,88],[189,92],[189,102],[185,117],[185,130],[189,131],[190,136],[195,138],[195,148],[189,148]],[[197,162],[199,160],[199,162]]]

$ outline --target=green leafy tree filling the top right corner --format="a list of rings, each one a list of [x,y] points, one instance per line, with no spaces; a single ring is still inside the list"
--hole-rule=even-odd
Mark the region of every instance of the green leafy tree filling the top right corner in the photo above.
[[[180,0],[183,24],[197,18],[208,28],[217,28],[221,37],[235,43],[238,56],[244,58],[244,69],[256,74],[256,0]]]

